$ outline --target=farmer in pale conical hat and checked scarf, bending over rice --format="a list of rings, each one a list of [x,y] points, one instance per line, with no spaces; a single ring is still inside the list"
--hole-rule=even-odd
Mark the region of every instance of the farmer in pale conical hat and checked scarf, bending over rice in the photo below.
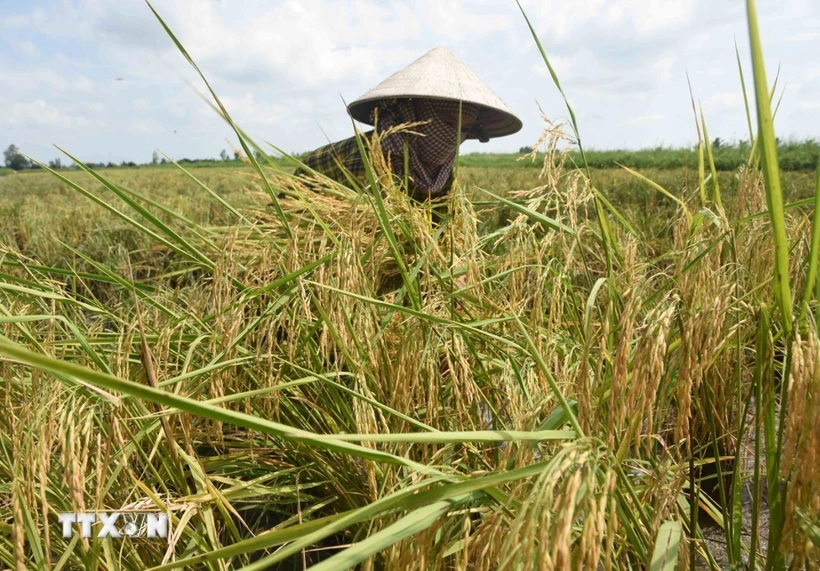
[[[405,161],[409,166],[408,190],[417,200],[449,192],[456,150],[466,139],[486,143],[521,129],[521,121],[504,102],[445,48],[427,52],[347,109],[354,119],[375,125],[379,133],[405,123],[426,122],[411,128],[412,132],[390,133],[381,139],[382,151],[400,180],[404,179]],[[342,184],[348,184],[348,176],[365,182],[356,137],[321,147],[302,162]],[[296,171],[297,175],[308,173],[303,168]]]

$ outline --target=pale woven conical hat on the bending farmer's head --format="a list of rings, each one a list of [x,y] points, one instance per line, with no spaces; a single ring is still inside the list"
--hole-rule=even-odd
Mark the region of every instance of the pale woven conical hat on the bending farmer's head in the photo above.
[[[447,48],[433,48],[348,105],[354,119],[372,125],[371,113],[390,99],[450,99],[481,106],[478,123],[488,137],[512,135],[521,120]],[[470,138],[476,138],[471,134]]]

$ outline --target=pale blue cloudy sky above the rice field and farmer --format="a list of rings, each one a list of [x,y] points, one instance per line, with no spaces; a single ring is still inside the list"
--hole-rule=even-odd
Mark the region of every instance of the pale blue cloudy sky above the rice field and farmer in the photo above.
[[[742,0],[522,0],[587,148],[748,138],[735,42],[751,85]],[[514,0],[155,0],[236,123],[288,152],[353,134],[352,101],[436,46],[524,123],[462,153],[537,141],[568,112]],[[781,138],[820,136],[820,2],[758,0]],[[46,162],[216,158],[238,146],[144,0],[0,0],[0,147]],[[778,92],[778,97],[780,93]],[[750,93],[750,97],[753,94]],[[540,109],[539,109],[540,106]],[[65,159],[63,160],[65,163]]]

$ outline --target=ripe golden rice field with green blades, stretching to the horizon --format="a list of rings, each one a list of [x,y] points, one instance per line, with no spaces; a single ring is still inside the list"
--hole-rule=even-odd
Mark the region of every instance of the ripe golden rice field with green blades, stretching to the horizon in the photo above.
[[[577,168],[570,124],[433,205],[378,141],[355,188],[238,128],[243,166],[0,178],[2,566],[816,569],[820,177],[749,5],[735,171]],[[57,519],[126,508],[168,539]]]

